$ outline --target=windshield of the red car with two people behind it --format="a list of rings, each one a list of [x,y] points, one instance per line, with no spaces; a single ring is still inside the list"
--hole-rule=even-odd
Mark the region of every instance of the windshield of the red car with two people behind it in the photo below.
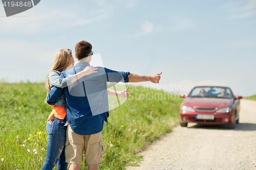
[[[231,99],[231,91],[227,87],[195,87],[188,97]]]

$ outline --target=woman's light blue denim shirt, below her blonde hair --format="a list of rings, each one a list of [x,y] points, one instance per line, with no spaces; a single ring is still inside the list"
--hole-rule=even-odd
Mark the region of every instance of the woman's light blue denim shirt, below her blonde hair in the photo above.
[[[50,82],[51,89],[53,88],[53,86],[64,88],[64,87],[67,87],[69,85],[72,85],[72,79],[73,79],[72,75],[68,75],[64,79],[61,78],[60,75],[61,75],[60,71],[53,70],[53,71],[50,72],[50,74],[49,74],[49,82]],[[66,100],[65,93],[63,92],[59,96],[58,100],[55,102],[54,105],[55,106],[62,106],[62,107],[66,108],[65,100]]]

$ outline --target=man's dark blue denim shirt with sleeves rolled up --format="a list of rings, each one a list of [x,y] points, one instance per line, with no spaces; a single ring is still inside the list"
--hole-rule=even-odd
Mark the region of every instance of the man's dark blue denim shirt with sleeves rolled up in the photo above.
[[[62,76],[74,75],[86,66],[87,62],[77,63],[74,68],[62,71]],[[84,76],[72,87],[65,88],[66,119],[72,130],[79,135],[99,133],[103,129],[104,120],[108,122],[109,102],[106,82],[129,82],[130,72],[114,71],[97,67],[98,72]],[[56,100],[62,92],[61,88],[53,88],[48,101]]]

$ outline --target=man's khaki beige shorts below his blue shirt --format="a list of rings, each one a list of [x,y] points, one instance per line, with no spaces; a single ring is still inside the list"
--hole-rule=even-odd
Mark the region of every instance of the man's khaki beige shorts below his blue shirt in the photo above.
[[[83,151],[87,164],[102,162],[104,152],[102,131],[92,135],[78,135],[68,125],[65,144],[66,162],[81,164]]]

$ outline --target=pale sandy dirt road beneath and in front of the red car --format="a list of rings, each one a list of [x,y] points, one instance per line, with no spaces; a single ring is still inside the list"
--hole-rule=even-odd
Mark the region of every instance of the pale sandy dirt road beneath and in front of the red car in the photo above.
[[[235,129],[194,123],[178,126],[140,153],[144,156],[140,166],[126,168],[256,169],[256,101],[241,100],[239,120]]]

